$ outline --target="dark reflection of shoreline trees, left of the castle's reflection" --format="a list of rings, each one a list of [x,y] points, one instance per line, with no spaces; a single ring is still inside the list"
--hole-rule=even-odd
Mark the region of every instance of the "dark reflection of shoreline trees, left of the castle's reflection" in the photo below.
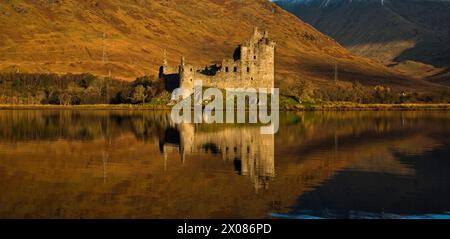
[[[165,113],[151,111],[1,111],[0,141],[95,140],[130,132],[145,140],[168,124]]]

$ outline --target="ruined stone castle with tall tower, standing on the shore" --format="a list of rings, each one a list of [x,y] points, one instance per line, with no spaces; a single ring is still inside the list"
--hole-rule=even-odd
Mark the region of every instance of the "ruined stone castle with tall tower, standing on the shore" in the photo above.
[[[166,54],[160,77],[166,80],[166,88],[192,90],[195,80],[201,80],[204,87],[215,88],[274,88],[275,42],[268,32],[254,29],[250,39],[240,45],[233,58],[223,59],[221,64],[196,67],[186,63],[184,57],[178,67],[167,64]]]

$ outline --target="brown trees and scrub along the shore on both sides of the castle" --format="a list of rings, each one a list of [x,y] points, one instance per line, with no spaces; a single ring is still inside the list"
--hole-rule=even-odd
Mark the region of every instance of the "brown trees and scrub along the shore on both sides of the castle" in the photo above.
[[[92,74],[0,73],[0,109],[170,109],[170,92],[155,76],[133,82]],[[353,82],[316,88],[307,81],[281,92],[282,110],[450,109],[450,91],[411,92]]]

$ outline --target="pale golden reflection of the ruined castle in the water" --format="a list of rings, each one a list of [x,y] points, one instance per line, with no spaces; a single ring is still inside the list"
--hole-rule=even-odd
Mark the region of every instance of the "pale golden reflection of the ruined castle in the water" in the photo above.
[[[180,124],[168,127],[160,138],[160,149],[167,160],[177,153],[210,153],[233,162],[236,172],[248,176],[255,190],[268,189],[275,177],[275,136],[262,135],[260,127]]]

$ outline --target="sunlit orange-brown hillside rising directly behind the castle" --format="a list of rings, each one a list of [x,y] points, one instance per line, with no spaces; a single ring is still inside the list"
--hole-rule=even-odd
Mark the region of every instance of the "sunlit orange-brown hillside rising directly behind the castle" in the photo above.
[[[253,27],[278,43],[276,79],[326,85],[340,80],[434,88],[352,55],[334,40],[267,0],[7,0],[0,3],[0,70],[92,72],[134,79],[156,74],[167,49],[206,65],[231,56]]]

